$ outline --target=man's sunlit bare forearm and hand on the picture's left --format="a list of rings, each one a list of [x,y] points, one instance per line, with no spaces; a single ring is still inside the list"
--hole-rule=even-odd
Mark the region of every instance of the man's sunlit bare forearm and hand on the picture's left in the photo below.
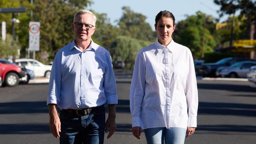
[[[56,104],[49,104],[49,115],[50,115],[50,122],[49,122],[49,127],[50,131],[52,132],[52,135],[54,137],[59,138],[59,132],[61,131],[60,128],[60,120],[57,112],[57,105]]]

